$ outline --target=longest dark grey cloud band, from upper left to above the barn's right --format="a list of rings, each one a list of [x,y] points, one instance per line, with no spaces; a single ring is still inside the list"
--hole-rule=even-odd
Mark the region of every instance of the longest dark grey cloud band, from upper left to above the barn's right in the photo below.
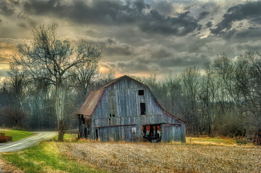
[[[29,0],[24,2],[23,7],[29,14],[53,14],[56,17],[70,19],[81,24],[100,23],[118,26],[134,24],[141,31],[149,33],[183,36],[193,32],[199,26],[198,20],[189,15],[190,11],[177,13],[177,17],[171,18],[168,15],[160,14],[156,9],[150,9],[150,5],[145,4],[143,0],[124,2],[76,0],[69,3],[55,0]],[[201,16],[203,17],[204,14]]]

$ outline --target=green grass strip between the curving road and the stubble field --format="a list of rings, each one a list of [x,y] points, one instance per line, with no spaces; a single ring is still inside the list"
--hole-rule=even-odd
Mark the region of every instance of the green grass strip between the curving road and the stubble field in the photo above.
[[[90,153],[92,154],[92,153]],[[0,157],[13,163],[17,168],[29,173],[33,172],[106,172],[64,157],[55,142],[40,142],[19,152],[0,153]]]

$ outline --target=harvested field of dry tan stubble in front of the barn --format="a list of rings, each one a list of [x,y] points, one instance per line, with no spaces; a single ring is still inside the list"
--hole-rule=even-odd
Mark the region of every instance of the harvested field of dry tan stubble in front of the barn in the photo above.
[[[187,143],[55,143],[67,158],[110,172],[261,173],[261,148],[231,139],[189,138]]]

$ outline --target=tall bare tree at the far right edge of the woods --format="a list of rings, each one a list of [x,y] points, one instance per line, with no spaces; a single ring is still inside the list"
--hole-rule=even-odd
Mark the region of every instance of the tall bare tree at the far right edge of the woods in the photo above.
[[[243,118],[248,119],[248,126],[260,128],[261,107],[261,53],[246,51],[235,62],[235,80],[238,101],[241,102]]]

